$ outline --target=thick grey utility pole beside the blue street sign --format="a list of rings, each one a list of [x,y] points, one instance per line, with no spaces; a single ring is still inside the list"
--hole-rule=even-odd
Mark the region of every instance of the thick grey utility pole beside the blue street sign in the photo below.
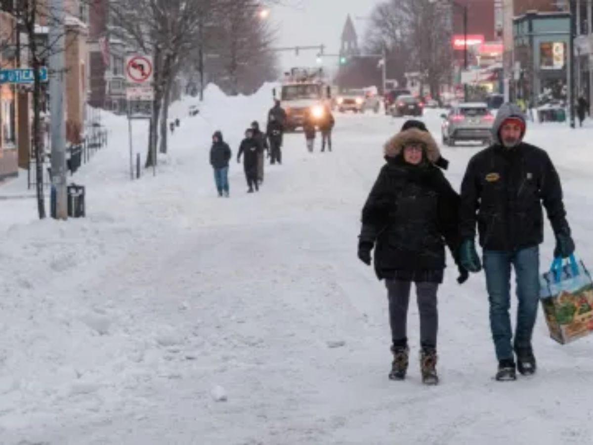
[[[55,196],[55,214],[58,220],[68,218],[66,196],[66,126],[64,123],[64,7],[63,0],[49,1],[49,94],[50,135],[52,137],[52,194]]]

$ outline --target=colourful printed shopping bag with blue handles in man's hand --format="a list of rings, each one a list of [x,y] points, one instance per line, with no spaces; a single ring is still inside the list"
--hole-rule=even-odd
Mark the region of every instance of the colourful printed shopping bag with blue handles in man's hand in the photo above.
[[[540,277],[540,298],[550,336],[566,344],[593,332],[593,281],[582,261],[554,259]]]

